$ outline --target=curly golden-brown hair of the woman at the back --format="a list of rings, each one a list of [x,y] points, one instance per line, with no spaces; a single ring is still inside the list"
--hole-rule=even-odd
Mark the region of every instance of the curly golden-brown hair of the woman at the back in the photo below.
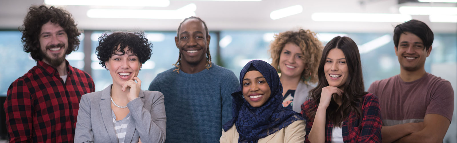
[[[300,76],[302,81],[306,84],[316,83],[318,81],[317,68],[322,56],[322,49],[324,49],[322,43],[316,38],[316,33],[300,29],[298,31],[275,34],[275,40],[271,43],[269,51],[273,60],[271,66],[275,67],[278,72],[281,72],[281,69],[279,69],[279,57],[282,48],[287,43],[296,44],[302,49],[302,60],[306,66]]]

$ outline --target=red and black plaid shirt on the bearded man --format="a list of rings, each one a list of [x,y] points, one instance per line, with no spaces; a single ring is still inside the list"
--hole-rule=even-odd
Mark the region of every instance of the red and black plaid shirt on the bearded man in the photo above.
[[[4,104],[10,143],[73,143],[79,101],[95,91],[95,84],[66,63],[65,83],[43,61],[11,83]]]

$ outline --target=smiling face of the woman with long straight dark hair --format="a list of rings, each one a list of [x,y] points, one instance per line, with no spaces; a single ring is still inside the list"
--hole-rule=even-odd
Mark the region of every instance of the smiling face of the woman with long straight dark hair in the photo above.
[[[341,49],[330,49],[325,58],[324,73],[330,86],[344,88],[349,76],[346,57]]]

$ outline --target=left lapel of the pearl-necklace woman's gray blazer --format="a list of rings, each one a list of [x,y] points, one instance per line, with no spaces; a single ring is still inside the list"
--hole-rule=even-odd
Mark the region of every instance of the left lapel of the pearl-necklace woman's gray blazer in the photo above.
[[[100,110],[101,110],[101,117],[103,119],[103,123],[105,123],[106,131],[111,139],[112,143],[118,143],[116,137],[116,132],[114,131],[114,123],[112,117],[112,110],[111,110],[111,86],[103,89],[101,93],[101,101],[100,101]]]

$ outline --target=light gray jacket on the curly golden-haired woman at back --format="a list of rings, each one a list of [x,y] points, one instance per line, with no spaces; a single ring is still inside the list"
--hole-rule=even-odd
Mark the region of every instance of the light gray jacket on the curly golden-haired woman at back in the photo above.
[[[308,99],[308,92],[309,90],[313,89],[314,87],[305,84],[305,82],[298,82],[297,89],[293,94],[293,101],[292,101],[292,110],[295,112],[300,113],[302,109],[300,106]],[[287,92],[287,91],[286,91]]]

